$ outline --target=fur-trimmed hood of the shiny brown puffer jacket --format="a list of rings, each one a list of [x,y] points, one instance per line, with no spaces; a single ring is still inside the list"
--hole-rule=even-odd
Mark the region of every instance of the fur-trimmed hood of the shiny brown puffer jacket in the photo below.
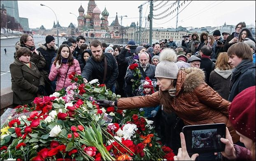
[[[195,67],[180,69],[176,84],[176,95],[180,90],[183,90],[184,92],[193,92],[196,87],[204,82],[205,73],[202,69]]]

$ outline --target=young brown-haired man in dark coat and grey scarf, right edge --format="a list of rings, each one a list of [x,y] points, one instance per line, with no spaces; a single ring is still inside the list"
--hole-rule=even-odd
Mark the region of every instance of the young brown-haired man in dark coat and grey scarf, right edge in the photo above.
[[[249,45],[238,42],[228,48],[228,63],[234,68],[230,79],[228,101],[242,90],[255,85],[255,63]]]

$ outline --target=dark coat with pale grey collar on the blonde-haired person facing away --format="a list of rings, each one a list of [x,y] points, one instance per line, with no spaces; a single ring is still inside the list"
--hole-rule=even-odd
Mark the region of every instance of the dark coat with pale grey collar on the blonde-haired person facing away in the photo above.
[[[211,72],[209,78],[209,86],[221,95],[223,99],[228,100],[229,84],[232,74],[232,69],[221,71],[219,68]]]

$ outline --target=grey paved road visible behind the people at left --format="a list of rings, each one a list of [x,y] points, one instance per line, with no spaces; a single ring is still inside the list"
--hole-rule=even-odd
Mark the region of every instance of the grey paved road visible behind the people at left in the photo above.
[[[34,35],[34,40],[35,40],[35,44],[36,44],[36,48],[38,48],[37,44],[38,43],[44,43],[45,42],[45,36],[37,36]],[[1,88],[6,88],[12,85],[11,83],[11,74],[9,73],[10,69],[9,66],[10,64],[14,61],[14,52],[15,52],[15,44],[16,42],[19,41],[19,38],[13,38],[13,39],[1,39],[0,43],[1,43],[1,72],[0,72],[0,76],[1,76]],[[64,39],[60,39],[59,40],[59,44],[62,44],[62,42],[65,41]],[[56,39],[56,43],[57,43],[57,39]],[[6,48],[6,54],[4,49]]]

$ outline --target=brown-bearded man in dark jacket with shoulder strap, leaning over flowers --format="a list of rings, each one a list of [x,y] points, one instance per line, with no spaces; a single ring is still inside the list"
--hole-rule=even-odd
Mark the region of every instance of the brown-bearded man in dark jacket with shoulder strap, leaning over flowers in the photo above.
[[[81,73],[84,82],[87,83],[89,78],[98,79],[100,84],[105,84],[112,92],[115,92],[114,83],[118,77],[118,66],[116,59],[112,54],[103,53],[102,44],[98,40],[93,40],[90,44],[92,56],[86,62]],[[105,74],[105,62],[107,63],[107,72]]]

